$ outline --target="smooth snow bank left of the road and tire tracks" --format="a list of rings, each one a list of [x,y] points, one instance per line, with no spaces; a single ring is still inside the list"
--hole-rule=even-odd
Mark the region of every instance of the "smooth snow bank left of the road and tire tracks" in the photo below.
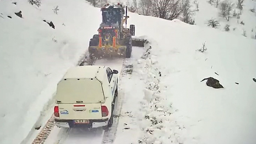
[[[101,22],[100,11],[81,0],[44,0],[39,8],[26,0],[12,2],[0,1],[1,144],[18,144],[27,136]],[[22,18],[14,14],[20,10]]]

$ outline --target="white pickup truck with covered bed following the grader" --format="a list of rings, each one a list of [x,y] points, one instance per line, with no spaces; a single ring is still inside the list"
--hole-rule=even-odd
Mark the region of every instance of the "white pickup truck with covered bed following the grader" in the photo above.
[[[107,66],[72,67],[57,84],[57,127],[111,127],[118,71]]]

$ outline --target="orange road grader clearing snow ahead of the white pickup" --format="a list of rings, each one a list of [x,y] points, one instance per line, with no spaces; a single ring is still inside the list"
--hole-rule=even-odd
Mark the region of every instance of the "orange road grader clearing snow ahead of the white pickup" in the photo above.
[[[124,56],[130,58],[132,46],[144,47],[145,40],[133,39],[135,25],[127,27],[127,6],[106,4],[101,8],[102,23],[98,34],[93,35],[89,42],[90,58]],[[125,15],[124,15],[125,14]],[[125,26],[124,26],[125,23]]]

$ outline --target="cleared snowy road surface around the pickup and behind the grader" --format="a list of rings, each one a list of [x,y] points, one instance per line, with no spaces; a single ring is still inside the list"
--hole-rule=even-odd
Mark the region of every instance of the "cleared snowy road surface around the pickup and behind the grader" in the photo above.
[[[123,58],[111,58],[111,59],[101,59],[97,60],[94,65],[104,65],[109,66],[111,69],[115,69],[119,71],[119,80],[121,77],[125,75],[124,67],[130,61],[136,61],[140,58],[145,52],[144,48],[133,47],[133,55],[129,60]],[[54,126],[47,136],[44,144],[70,144],[70,143],[93,143],[93,144],[101,144],[101,143],[113,143],[116,135],[116,130],[118,127],[118,115],[120,115],[121,105],[122,105],[122,97],[124,97],[125,93],[122,89],[119,89],[118,99],[116,99],[116,105],[114,110],[114,119],[113,125],[108,130],[103,130],[103,128],[95,128],[95,129],[84,129],[84,128],[58,128]],[[117,116],[117,117],[115,117]]]

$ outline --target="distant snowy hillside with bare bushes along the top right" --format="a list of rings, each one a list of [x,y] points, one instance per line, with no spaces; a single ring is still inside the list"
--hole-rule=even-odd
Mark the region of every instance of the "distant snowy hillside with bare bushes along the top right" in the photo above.
[[[97,1],[97,0],[87,0]],[[101,0],[98,0],[101,4]],[[256,39],[256,0],[103,0],[122,3],[130,12],[180,19],[202,27]],[[188,21],[184,20],[187,19]],[[213,23],[212,23],[213,22]]]

